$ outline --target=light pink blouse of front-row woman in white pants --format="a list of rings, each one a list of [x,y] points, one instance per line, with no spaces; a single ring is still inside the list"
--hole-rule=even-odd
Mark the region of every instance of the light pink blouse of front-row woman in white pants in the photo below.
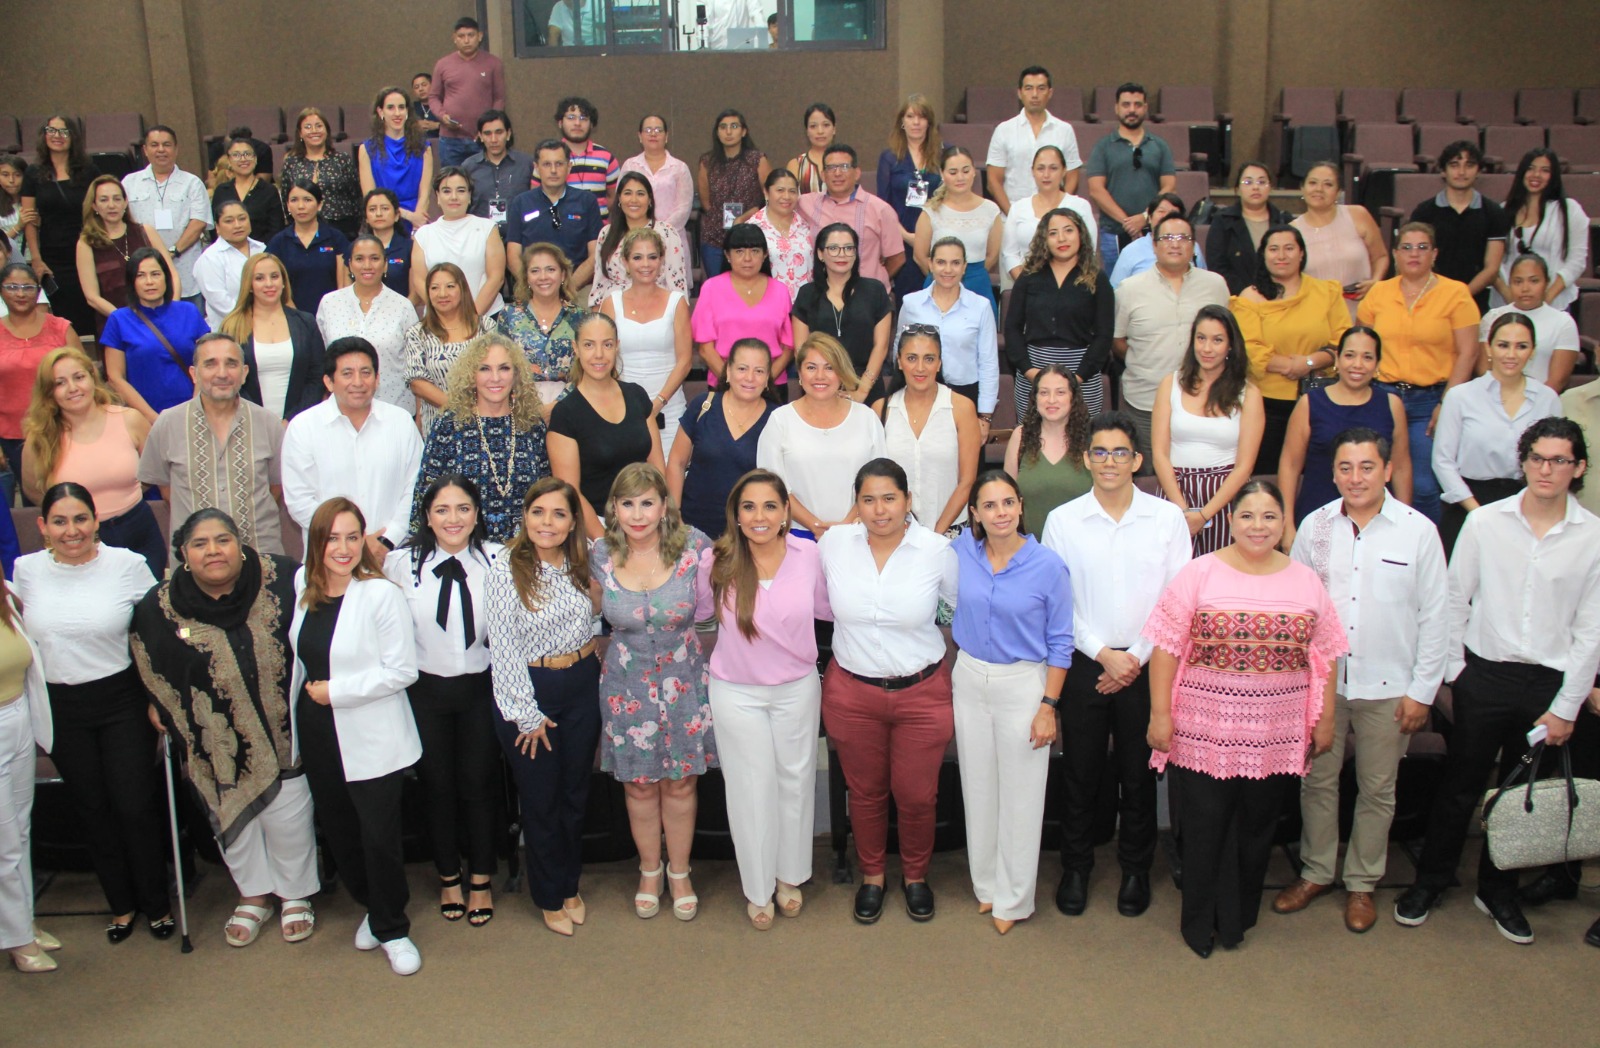
[[[739,632],[733,611],[733,592],[717,610],[712,600],[710,573],[715,550],[701,554],[701,570],[694,573],[698,602],[694,619],[704,622],[717,616],[717,646],[710,651],[710,675],[736,685],[786,685],[816,672],[816,630],[813,619],[832,619],[827,603],[827,578],[816,542],[784,536],[784,563],[778,566],[771,586],[755,592],[757,638]]]

